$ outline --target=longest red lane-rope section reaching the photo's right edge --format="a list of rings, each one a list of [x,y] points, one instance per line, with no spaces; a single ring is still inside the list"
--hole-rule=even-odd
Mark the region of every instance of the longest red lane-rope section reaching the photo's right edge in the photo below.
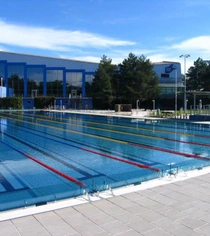
[[[177,152],[177,151],[173,151],[173,150],[168,150],[168,149],[159,148],[159,147],[152,147],[152,146],[147,146],[147,145],[138,144],[138,143],[128,143],[128,144],[132,145],[132,146],[137,146],[137,147],[157,150],[157,151],[161,151],[161,152],[168,152],[168,153],[172,153],[172,154],[176,154],[176,155],[181,155],[181,156],[185,156],[185,157],[189,157],[189,158],[198,158],[198,159],[210,161],[210,158],[208,158],[208,157],[202,157],[202,156],[198,156],[198,155],[195,155],[195,154],[189,154],[189,153],[184,153],[184,152]]]

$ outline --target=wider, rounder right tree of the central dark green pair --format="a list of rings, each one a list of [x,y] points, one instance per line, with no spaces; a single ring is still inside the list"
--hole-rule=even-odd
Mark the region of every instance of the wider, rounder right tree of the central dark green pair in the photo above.
[[[160,95],[158,76],[145,56],[137,57],[130,53],[119,65],[119,74],[122,96],[129,102],[142,102]]]

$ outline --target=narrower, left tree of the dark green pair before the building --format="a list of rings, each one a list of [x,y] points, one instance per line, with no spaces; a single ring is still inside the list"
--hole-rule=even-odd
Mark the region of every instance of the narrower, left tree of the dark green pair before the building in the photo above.
[[[111,108],[113,101],[112,78],[114,77],[116,65],[112,64],[112,60],[103,56],[95,73],[92,82],[92,88],[89,88],[93,99],[101,101],[103,107]],[[90,86],[89,86],[90,87]]]

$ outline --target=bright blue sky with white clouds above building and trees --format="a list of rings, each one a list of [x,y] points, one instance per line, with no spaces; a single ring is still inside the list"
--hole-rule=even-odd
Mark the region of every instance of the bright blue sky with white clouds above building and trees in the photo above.
[[[134,53],[182,73],[210,60],[210,0],[0,0],[0,10],[0,51],[113,64]]]

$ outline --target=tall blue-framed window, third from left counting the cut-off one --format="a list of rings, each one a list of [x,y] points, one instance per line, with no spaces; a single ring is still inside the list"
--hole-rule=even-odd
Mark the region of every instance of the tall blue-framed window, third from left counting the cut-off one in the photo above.
[[[27,96],[33,97],[43,96],[44,85],[44,68],[43,67],[28,67],[27,68]]]

